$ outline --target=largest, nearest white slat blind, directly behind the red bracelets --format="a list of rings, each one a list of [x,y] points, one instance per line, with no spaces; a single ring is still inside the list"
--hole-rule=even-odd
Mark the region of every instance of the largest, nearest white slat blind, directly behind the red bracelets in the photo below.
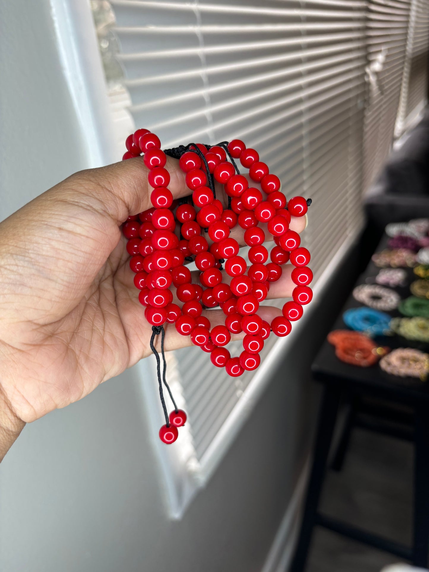
[[[113,0],[112,7],[136,126],[152,129],[165,147],[234,137],[255,147],[287,197],[313,199],[304,244],[317,280],[362,225],[366,2]],[[236,344],[232,353],[239,352]],[[199,348],[178,352],[177,361],[201,459],[253,374],[229,378]]]

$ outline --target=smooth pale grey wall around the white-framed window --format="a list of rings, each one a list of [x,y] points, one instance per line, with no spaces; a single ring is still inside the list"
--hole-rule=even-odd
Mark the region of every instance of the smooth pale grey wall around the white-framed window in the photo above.
[[[3,1],[0,21],[5,217],[88,165],[49,2]],[[261,570],[307,456],[315,323],[180,522],[166,517],[136,371],[28,425],[0,468],[0,569]]]

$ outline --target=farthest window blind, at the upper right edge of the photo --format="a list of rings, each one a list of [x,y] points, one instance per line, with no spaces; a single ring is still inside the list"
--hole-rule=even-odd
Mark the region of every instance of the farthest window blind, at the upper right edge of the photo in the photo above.
[[[411,0],[410,24],[395,135],[400,136],[427,102],[429,0]]]

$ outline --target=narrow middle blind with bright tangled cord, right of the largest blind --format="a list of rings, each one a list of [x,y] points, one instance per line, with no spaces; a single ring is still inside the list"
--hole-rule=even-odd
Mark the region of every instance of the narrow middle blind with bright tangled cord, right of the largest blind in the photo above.
[[[368,3],[368,101],[364,125],[364,189],[388,156],[406,58],[410,0]]]

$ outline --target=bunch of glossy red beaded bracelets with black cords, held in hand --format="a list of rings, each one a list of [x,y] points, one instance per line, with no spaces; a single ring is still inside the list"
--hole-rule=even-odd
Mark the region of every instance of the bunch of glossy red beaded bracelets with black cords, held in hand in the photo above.
[[[212,363],[224,367],[229,375],[237,377],[244,371],[255,370],[260,364],[259,352],[271,331],[277,336],[288,335],[291,321],[300,319],[303,305],[312,299],[308,284],[313,275],[307,267],[310,254],[300,247],[300,236],[289,229],[291,216],[304,216],[311,199],[293,197],[287,201],[280,190],[279,177],[269,173],[255,149],[246,149],[238,139],[213,146],[191,143],[164,152],[155,134],[138,129],[125,145],[128,150],[124,160],[143,154],[149,169],[148,182],[153,188],[150,194],[153,208],[128,217],[123,232],[128,239],[130,268],[136,273],[134,284],[140,289],[138,299],[146,307],[145,317],[152,325],[150,347],[157,359],[165,415],[160,438],[164,443],[173,443],[186,414],[177,408],[165,380],[164,324],[174,324],[178,333],[190,336],[192,343],[209,352]],[[192,193],[178,201],[173,200],[168,189],[166,154],[179,160],[186,173],[186,186]],[[261,190],[249,188],[248,179],[237,167],[237,159],[249,169],[250,178],[260,184]],[[227,208],[216,198],[215,181],[224,185]],[[176,220],[180,229],[176,228]],[[259,223],[267,223],[276,244],[268,264],[268,250],[263,245],[265,233]],[[239,243],[229,236],[237,224],[245,230],[244,241],[250,247],[249,268],[239,256]],[[185,261],[195,262],[201,285],[193,283]],[[296,284],[293,301],[284,304],[283,316],[268,324],[257,314],[259,304],[267,297],[270,283],[279,280],[281,265],[288,261],[295,266],[291,275]],[[223,282],[223,264],[231,284]],[[173,292],[181,307],[174,303]],[[202,308],[217,305],[225,313],[225,324],[211,328],[210,320],[201,316]],[[243,351],[232,358],[225,345],[231,340],[231,333],[240,332],[245,333]],[[160,333],[162,378],[160,356],[154,348],[155,336]],[[174,404],[170,415],[162,382]]]

